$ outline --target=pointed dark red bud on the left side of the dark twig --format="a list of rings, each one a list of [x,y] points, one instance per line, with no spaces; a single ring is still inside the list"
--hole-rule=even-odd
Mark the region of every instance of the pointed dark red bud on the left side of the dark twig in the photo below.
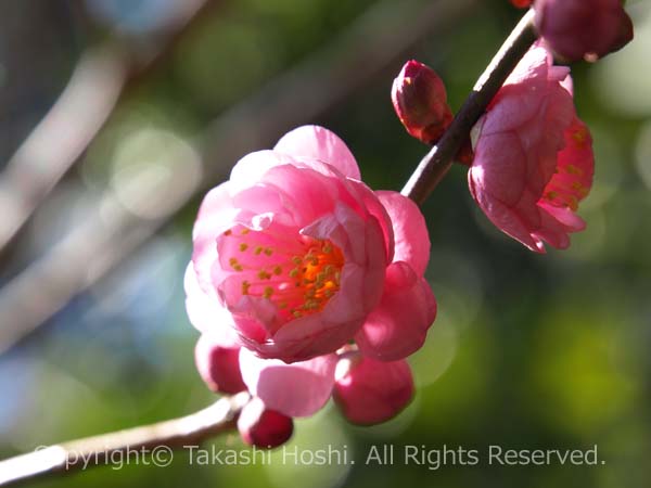
[[[403,66],[393,82],[391,99],[407,132],[425,144],[436,142],[452,121],[443,81],[418,61]]]

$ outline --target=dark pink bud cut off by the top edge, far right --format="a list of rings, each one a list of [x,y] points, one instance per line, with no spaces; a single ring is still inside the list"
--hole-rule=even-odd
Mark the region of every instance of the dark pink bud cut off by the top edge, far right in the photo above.
[[[536,0],[534,9],[538,33],[567,61],[596,61],[633,39],[622,0]]]

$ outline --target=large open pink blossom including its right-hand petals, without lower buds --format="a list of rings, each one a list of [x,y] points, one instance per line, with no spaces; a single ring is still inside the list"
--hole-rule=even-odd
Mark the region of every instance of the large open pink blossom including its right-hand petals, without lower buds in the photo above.
[[[348,147],[315,126],[242,158],[194,227],[192,323],[285,362],[334,352],[367,329],[370,354],[418,349],[435,314],[424,219],[408,198],[359,178]]]

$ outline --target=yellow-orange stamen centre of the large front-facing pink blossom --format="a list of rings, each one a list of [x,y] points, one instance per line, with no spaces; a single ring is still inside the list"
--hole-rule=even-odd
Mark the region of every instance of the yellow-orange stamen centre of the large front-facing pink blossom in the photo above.
[[[329,240],[245,228],[225,236],[241,294],[270,300],[284,321],[323,310],[340,288],[344,255]]]

